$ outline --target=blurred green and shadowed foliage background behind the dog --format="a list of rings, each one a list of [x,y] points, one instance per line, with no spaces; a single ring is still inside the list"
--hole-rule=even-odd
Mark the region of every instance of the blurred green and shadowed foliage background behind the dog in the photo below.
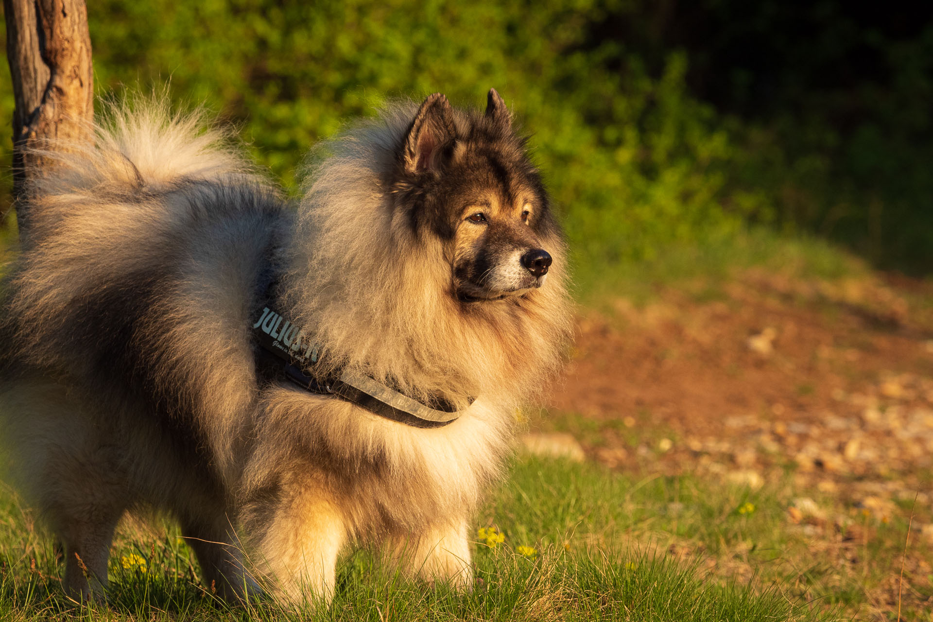
[[[584,280],[749,224],[928,271],[933,29],[884,38],[842,2],[817,4],[97,0],[89,14],[99,92],[168,82],[237,124],[292,189],[311,145],[385,98],[481,105],[494,86],[535,134]],[[795,10],[819,36],[787,37]],[[685,35],[694,24],[703,37]],[[884,79],[824,83],[856,44],[875,46]],[[735,45],[776,67],[744,66]],[[758,76],[773,78],[765,104]]]

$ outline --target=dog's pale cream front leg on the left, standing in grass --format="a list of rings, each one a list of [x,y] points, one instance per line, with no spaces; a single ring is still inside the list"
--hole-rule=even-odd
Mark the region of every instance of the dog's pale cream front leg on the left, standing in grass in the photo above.
[[[276,508],[259,551],[291,606],[309,601],[329,604],[337,556],[345,542],[346,529],[334,505],[320,498],[295,498]]]

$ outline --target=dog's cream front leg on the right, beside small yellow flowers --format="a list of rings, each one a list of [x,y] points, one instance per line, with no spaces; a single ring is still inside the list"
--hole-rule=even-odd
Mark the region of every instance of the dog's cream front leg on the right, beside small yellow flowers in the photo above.
[[[394,552],[406,574],[457,589],[473,586],[466,521],[432,525],[419,534],[399,537]]]

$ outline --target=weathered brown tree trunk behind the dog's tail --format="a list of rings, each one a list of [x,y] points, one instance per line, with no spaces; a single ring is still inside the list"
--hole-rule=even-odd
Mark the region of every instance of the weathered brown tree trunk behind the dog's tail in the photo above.
[[[13,79],[13,200],[20,235],[28,228],[29,182],[54,160],[30,149],[51,139],[91,140],[94,117],[91,35],[84,0],[4,0],[7,62]],[[51,144],[61,149],[61,143]]]

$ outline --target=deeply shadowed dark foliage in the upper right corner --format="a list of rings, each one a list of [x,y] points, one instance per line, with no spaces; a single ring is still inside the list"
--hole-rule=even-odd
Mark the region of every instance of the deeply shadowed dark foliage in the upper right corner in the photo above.
[[[689,93],[743,145],[738,186],[763,189],[782,228],[933,269],[933,4],[634,0],[592,23],[607,37],[649,74],[687,54]]]

